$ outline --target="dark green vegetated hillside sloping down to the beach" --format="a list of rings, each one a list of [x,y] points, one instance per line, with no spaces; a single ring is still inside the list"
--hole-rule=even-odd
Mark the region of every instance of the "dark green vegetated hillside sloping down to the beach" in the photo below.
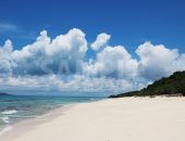
[[[185,97],[185,72],[176,72],[168,78],[161,78],[139,91],[132,91],[109,98],[121,97],[155,97],[155,95],[184,95]]]

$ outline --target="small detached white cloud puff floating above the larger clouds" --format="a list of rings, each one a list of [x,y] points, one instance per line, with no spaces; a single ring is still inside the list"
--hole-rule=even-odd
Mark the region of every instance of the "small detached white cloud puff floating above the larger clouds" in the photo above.
[[[96,41],[94,41],[90,46],[91,49],[94,51],[98,51],[101,47],[103,47],[108,43],[110,38],[111,38],[111,35],[108,35],[106,33],[98,35]]]

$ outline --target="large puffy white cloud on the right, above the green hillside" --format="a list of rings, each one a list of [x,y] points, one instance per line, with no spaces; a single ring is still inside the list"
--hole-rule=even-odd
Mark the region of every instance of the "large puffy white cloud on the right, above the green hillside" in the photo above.
[[[184,67],[180,62],[181,54],[176,49],[168,49],[163,44],[153,46],[151,42],[140,44],[136,50],[140,57],[138,68],[141,77],[147,79],[159,79],[162,76],[169,76],[178,70],[177,67]],[[177,66],[178,64],[178,66]]]

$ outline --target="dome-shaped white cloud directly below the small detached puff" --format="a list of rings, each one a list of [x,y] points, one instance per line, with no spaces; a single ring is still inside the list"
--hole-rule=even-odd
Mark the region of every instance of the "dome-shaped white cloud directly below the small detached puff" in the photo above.
[[[137,61],[132,59],[124,47],[106,47],[97,54],[94,63],[85,65],[86,74],[107,77],[133,77],[137,73]]]

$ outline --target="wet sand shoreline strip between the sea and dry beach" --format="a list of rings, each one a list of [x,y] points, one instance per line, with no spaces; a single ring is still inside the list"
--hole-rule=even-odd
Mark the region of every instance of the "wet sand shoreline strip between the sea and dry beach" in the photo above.
[[[65,111],[69,111],[71,107],[75,106],[76,104],[92,103],[92,102],[98,102],[98,101],[103,101],[103,100],[107,100],[107,99],[64,104],[64,105],[61,105],[60,107],[54,107],[53,110],[50,110],[50,111],[46,112],[45,114],[37,115],[36,117],[20,120],[20,121],[14,123],[10,126],[1,128],[0,129],[0,140],[2,140],[2,141],[10,140],[9,133],[12,133],[14,137],[14,136],[17,136],[17,133],[25,131],[25,129],[22,130],[22,127],[24,127],[24,126],[26,127],[26,132],[27,132],[27,131],[34,129],[35,126],[39,126],[41,124],[50,121],[50,120],[54,119],[55,116],[63,115]]]

